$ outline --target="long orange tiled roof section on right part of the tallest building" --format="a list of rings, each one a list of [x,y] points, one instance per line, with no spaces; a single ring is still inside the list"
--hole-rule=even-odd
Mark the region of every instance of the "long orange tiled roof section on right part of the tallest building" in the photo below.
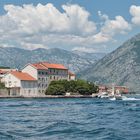
[[[67,70],[67,68],[62,64],[53,64],[48,62],[42,62],[41,64],[47,68]]]

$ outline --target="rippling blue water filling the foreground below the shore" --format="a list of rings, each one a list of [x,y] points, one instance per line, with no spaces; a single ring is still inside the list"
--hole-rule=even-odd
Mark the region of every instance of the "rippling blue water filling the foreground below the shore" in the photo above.
[[[0,99],[0,140],[140,140],[140,101]]]

